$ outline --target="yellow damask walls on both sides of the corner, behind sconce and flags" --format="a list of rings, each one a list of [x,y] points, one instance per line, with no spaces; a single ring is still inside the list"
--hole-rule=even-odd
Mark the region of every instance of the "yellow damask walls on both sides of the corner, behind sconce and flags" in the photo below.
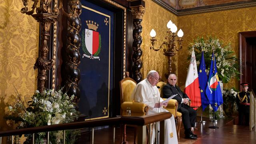
[[[187,16],[175,16],[168,12],[152,0],[146,0],[146,13],[142,21],[142,38],[141,48],[143,50],[141,69],[142,77],[145,78],[149,70],[156,70],[164,80],[164,73],[167,72],[167,58],[163,55],[163,50],[155,52],[150,50],[149,33],[152,28],[156,31],[158,46],[165,40],[166,24],[172,20],[184,32],[183,49],[173,57],[172,72],[178,76],[178,85],[183,89],[186,81],[188,60],[190,57],[188,46],[198,36],[216,36],[224,42],[231,43],[231,46],[238,56],[238,32],[256,30],[256,8],[240,8],[234,10],[225,10],[218,12],[209,12],[202,14],[193,14]],[[161,42],[161,43],[160,43]],[[224,84],[224,87],[238,88],[238,81],[231,80],[229,84]]]

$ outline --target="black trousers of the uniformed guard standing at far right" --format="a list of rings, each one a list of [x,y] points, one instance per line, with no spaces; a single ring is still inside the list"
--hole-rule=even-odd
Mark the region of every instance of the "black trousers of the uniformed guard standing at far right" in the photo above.
[[[250,119],[250,106],[240,104],[238,108],[239,112],[239,125],[244,125],[244,116],[245,116],[245,125],[249,125]]]

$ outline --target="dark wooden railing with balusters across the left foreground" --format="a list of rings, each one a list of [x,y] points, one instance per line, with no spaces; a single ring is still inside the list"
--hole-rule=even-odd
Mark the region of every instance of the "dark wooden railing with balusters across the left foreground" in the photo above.
[[[40,126],[34,128],[24,128],[18,130],[8,130],[0,132],[0,144],[2,144],[2,137],[10,136],[11,143],[14,143],[14,136],[22,135],[22,134],[33,134],[32,143],[35,143],[35,134],[39,132],[47,132],[47,144],[49,144],[49,134],[52,131],[63,131],[63,144],[65,144],[65,131],[66,130],[74,130],[74,129],[81,129],[81,128],[93,128],[97,126],[115,126],[115,125],[122,125],[122,124],[131,124],[137,126],[137,134],[138,134],[138,144],[146,144],[147,140],[150,138],[146,138],[146,125],[152,124],[154,122],[160,122],[160,144],[164,144],[164,120],[170,118],[172,115],[170,112],[161,112],[158,114],[134,117],[134,116],[117,116],[114,118],[105,118],[100,120],[90,120],[90,121],[83,121],[83,122],[73,122],[67,124],[56,124],[50,126]],[[113,130],[115,133],[115,129]],[[92,133],[92,140],[93,143],[93,133]],[[115,142],[115,134],[113,134],[113,143]],[[122,138],[121,138],[122,139]]]

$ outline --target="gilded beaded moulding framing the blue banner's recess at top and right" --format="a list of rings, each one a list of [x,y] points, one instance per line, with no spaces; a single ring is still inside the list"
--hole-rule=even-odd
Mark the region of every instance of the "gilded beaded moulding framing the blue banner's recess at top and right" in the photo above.
[[[120,8],[124,10],[124,51],[123,51],[123,78],[125,78],[125,72],[126,72],[126,8],[121,6],[120,4],[112,1],[112,0],[104,0],[105,2],[108,2],[109,4],[116,6],[117,8]]]

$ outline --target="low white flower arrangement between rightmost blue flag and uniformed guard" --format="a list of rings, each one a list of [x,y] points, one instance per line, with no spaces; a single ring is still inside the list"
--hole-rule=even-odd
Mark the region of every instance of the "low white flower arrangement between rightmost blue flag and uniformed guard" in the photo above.
[[[236,89],[223,90],[223,107],[226,114],[232,114],[233,111],[237,111],[238,106],[236,104],[236,96],[238,92]]]

